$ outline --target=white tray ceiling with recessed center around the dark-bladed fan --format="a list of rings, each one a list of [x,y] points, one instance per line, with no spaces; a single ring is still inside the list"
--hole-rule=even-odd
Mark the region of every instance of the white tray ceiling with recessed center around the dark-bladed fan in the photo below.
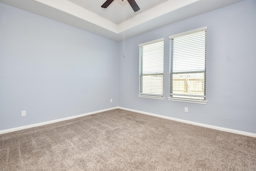
[[[106,0],[0,0],[70,26],[115,41],[200,15],[244,0],[136,0],[140,7],[134,12],[127,1],[114,0],[108,8]],[[125,14],[125,22],[123,22]],[[125,23],[125,24],[124,24]]]

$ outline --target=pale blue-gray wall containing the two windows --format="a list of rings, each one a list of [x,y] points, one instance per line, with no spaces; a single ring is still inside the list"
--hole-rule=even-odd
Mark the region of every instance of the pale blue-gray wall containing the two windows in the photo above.
[[[207,105],[168,101],[168,36],[207,30]],[[164,100],[138,97],[138,44],[164,38]],[[119,106],[256,133],[256,1],[247,0],[119,43]],[[184,112],[188,107],[188,113]]]

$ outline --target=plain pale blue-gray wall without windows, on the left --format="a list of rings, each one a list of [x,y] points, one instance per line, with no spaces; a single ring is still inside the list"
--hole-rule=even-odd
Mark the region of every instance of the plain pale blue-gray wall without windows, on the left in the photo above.
[[[0,3],[0,130],[118,106],[117,56],[118,42]]]

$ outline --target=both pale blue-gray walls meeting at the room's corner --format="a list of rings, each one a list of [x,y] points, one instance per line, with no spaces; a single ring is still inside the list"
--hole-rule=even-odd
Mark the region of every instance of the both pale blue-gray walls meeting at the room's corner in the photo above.
[[[124,58],[122,42],[0,3],[0,130],[120,106],[256,133],[255,18],[246,0],[130,38]],[[202,26],[208,104],[168,101],[168,36]],[[138,44],[158,38],[165,99],[139,98]]]

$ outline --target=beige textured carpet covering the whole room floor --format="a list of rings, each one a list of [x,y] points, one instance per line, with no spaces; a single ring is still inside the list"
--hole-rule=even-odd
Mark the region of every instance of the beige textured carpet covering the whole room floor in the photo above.
[[[256,171],[256,138],[114,109],[0,135],[1,171]]]

